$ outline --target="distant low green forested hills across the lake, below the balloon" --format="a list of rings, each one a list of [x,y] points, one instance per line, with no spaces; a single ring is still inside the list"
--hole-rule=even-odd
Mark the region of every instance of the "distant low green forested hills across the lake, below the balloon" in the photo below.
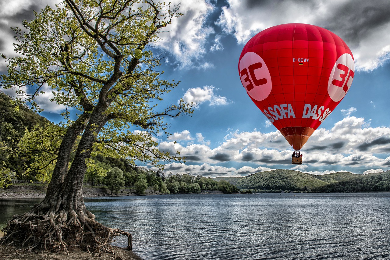
[[[226,180],[236,185],[239,189],[252,189],[259,192],[390,191],[390,171],[367,175],[347,172],[311,175],[300,171],[279,169],[255,173],[245,177],[217,177],[215,180]]]

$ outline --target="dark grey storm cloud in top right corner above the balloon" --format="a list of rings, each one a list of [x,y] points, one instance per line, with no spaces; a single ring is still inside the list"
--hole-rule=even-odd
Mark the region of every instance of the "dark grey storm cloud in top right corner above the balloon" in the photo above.
[[[380,30],[390,22],[390,1],[343,1],[334,5],[326,1],[313,0],[246,0],[246,9],[267,9],[278,15],[288,13],[288,7],[302,7],[313,13],[321,13],[320,8],[327,9],[324,16],[317,16],[313,22],[339,35],[350,47],[357,47],[362,39],[372,32]],[[300,14],[297,14],[299,16]]]

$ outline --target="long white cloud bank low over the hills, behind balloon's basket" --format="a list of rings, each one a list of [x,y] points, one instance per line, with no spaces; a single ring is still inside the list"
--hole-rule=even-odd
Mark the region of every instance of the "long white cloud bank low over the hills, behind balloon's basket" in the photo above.
[[[184,131],[178,134],[191,136],[190,132]],[[319,175],[336,171],[362,174],[383,171],[390,166],[390,127],[369,127],[364,118],[354,116],[340,120],[330,130],[318,128],[301,150],[304,164],[300,166],[291,165],[293,150],[278,131],[229,132],[215,148],[204,142],[201,133],[195,136],[202,144],[186,143],[188,138],[182,138],[184,143],[160,143],[160,150],[178,150],[181,156],[187,157],[186,165],[179,167],[179,164],[172,164],[172,167],[178,168],[168,167],[171,171],[207,176],[245,176],[282,168]],[[198,164],[204,166],[202,170]]]

